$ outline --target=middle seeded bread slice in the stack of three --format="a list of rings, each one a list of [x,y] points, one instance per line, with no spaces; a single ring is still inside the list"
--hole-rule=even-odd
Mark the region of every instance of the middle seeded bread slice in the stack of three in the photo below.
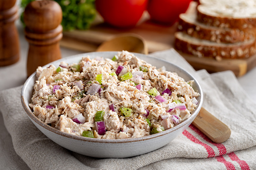
[[[199,23],[196,14],[181,14],[178,31],[187,33],[188,35],[209,40],[217,43],[236,43],[248,41],[253,38],[254,32],[251,29],[221,29],[218,27],[211,27]]]

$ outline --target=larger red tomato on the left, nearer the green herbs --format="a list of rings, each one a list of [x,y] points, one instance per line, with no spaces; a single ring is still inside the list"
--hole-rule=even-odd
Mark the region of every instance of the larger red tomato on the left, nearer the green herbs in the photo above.
[[[97,11],[106,23],[133,27],[146,10],[148,0],[96,0]]]

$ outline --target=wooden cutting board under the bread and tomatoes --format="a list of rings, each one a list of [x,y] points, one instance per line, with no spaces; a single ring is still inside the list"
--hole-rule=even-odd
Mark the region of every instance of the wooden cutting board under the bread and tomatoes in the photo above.
[[[117,35],[133,33],[141,36],[145,40],[149,53],[173,48],[174,33],[177,30],[177,24],[172,27],[160,26],[150,23],[148,18],[148,15],[145,14],[140,24],[131,29],[116,29],[104,24],[103,20],[98,18],[98,22],[90,30],[63,32],[60,45],[82,52],[92,52],[96,51],[100,44]],[[198,58],[184,53],[180,54],[196,70],[206,69],[210,73],[231,70],[236,76],[242,76],[256,66],[256,55],[247,59],[223,59],[217,61],[213,58]]]

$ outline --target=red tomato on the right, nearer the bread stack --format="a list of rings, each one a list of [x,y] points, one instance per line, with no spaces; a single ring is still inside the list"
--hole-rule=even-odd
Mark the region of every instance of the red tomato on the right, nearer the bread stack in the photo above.
[[[156,23],[173,25],[179,15],[185,13],[192,0],[149,0],[147,11],[150,20]]]

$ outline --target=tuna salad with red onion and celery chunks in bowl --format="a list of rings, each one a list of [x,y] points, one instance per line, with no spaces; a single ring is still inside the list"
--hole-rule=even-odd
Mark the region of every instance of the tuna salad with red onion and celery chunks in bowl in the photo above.
[[[127,51],[112,59],[38,67],[29,106],[44,123],[84,137],[123,139],[172,128],[191,116],[199,93],[176,73]]]

